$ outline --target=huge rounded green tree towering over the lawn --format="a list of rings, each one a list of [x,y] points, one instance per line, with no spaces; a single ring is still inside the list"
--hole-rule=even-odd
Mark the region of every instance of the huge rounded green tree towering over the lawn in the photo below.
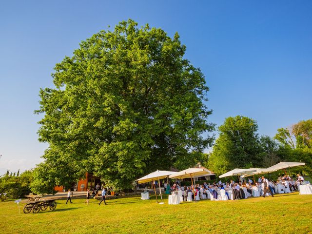
[[[203,135],[214,129],[204,104],[209,89],[185,49],[177,33],[170,38],[133,20],[82,41],[56,64],[56,88],[40,90],[39,140],[49,143],[43,158],[123,189],[202,152],[213,140]]]

